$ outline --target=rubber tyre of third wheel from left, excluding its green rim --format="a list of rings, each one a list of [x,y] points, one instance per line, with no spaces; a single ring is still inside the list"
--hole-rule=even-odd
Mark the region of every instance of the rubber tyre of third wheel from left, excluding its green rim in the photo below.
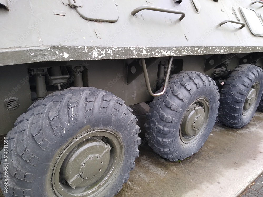
[[[256,99],[249,110],[244,112],[246,98],[254,86],[257,86]],[[250,64],[237,66],[225,81],[220,94],[219,121],[233,128],[246,126],[257,110],[262,92],[262,69]]]

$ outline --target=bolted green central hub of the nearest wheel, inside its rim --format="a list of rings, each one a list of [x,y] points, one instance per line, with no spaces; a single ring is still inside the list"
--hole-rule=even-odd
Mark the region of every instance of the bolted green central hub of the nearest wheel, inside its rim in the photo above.
[[[110,145],[90,138],[80,143],[64,160],[60,173],[73,189],[97,182],[110,162]]]

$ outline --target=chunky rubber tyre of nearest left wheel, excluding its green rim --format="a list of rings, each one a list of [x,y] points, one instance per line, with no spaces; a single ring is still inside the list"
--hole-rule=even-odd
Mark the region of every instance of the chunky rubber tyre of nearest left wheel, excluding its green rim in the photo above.
[[[92,87],[69,88],[35,102],[7,134],[7,161],[3,159],[4,149],[1,151],[2,178],[5,163],[9,163],[8,193],[4,195],[59,196],[52,186],[52,173],[61,152],[84,133],[104,129],[120,136],[122,163],[103,189],[83,196],[114,196],[128,180],[139,155],[140,128],[131,111],[122,99]],[[4,182],[5,178],[1,180],[2,191],[6,190]]]

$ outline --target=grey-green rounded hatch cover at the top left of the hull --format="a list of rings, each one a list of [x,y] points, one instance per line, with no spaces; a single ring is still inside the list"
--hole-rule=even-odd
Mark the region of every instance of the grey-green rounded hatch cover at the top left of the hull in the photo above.
[[[119,19],[114,0],[82,0],[82,3],[82,7],[76,7],[76,11],[86,20],[115,23]]]

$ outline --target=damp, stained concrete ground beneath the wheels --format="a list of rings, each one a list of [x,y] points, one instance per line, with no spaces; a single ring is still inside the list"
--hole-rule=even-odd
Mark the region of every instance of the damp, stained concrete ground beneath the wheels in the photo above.
[[[149,106],[141,103],[131,108],[139,119],[142,145],[135,170],[115,197],[237,197],[263,172],[261,112],[256,112],[249,125],[241,129],[217,121],[198,153],[181,162],[170,162],[147,145],[143,125]]]

